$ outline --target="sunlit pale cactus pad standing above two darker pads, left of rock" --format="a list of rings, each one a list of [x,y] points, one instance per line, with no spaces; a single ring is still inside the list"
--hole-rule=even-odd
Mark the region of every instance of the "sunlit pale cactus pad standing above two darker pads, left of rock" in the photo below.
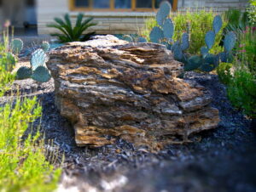
[[[47,60],[48,60],[47,54],[44,53],[44,50],[42,48],[38,48],[36,51],[32,53],[32,58],[30,60],[30,64],[32,65],[32,70],[34,71],[40,65],[45,65]]]

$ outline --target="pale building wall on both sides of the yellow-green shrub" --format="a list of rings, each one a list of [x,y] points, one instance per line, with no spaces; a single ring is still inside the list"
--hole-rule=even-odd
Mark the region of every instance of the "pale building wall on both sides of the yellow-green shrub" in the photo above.
[[[218,8],[224,11],[230,7],[245,8],[247,0],[178,0],[178,10],[187,8]],[[49,34],[55,32],[54,29],[47,28],[46,25],[53,22],[55,17],[63,14],[71,14],[75,20],[77,12],[69,11],[68,0],[38,0],[38,34]],[[85,17],[94,17],[98,25],[90,28],[98,34],[131,34],[143,27],[144,20],[155,13],[128,13],[128,12],[86,12]]]

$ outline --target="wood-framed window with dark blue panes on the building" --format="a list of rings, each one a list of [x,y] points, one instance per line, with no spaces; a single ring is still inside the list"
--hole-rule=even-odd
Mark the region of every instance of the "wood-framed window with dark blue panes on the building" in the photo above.
[[[90,11],[152,11],[166,0],[69,0],[71,10]],[[177,0],[168,0],[172,10],[177,9]]]

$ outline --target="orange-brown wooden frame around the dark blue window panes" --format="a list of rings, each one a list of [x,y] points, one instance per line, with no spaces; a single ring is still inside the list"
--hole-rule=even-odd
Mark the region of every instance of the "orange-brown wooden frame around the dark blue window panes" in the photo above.
[[[75,6],[75,0],[69,0],[69,9],[71,11],[90,11],[90,12],[152,12],[156,11],[157,8],[154,8],[155,0],[152,0],[153,8],[137,8],[137,0],[131,0],[131,8],[114,8],[114,0],[110,1],[110,8],[93,8],[93,0],[89,0],[89,8],[79,8]],[[173,0],[172,11],[177,10],[177,0]]]

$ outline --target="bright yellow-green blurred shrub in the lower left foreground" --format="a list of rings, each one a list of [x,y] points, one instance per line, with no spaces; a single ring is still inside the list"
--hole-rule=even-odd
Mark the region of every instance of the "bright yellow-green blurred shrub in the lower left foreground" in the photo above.
[[[15,100],[0,107],[0,190],[52,191],[61,170],[45,159],[40,133],[22,139],[30,124],[41,116],[36,98]]]

